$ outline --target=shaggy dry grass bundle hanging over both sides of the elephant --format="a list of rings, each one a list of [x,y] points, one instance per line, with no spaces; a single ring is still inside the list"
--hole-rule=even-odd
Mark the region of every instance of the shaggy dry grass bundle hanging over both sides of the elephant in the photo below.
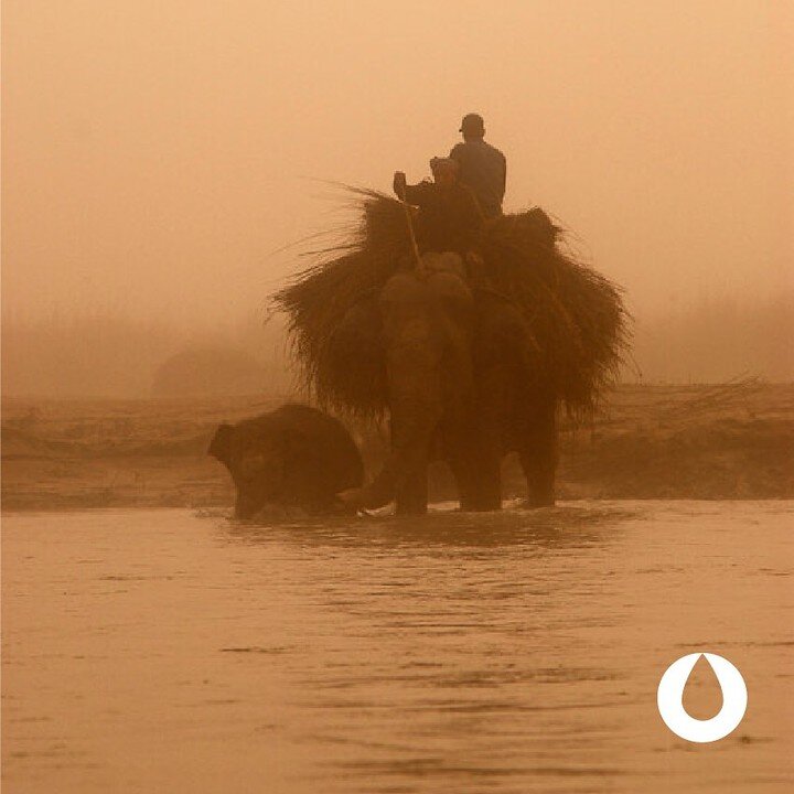
[[[354,190],[357,226],[314,251],[273,300],[288,315],[307,387],[321,405],[360,417],[387,403],[377,290],[410,256],[405,207]],[[519,307],[535,345],[528,352],[569,412],[591,410],[614,378],[627,341],[620,289],[562,250],[560,229],[540,210],[489,222],[481,239],[490,288]]]

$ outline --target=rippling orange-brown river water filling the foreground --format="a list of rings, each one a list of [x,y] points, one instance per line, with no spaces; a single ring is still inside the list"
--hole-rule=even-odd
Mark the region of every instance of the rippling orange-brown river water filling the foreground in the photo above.
[[[3,792],[791,791],[793,507],[7,516]],[[695,651],[712,744],[656,710]]]

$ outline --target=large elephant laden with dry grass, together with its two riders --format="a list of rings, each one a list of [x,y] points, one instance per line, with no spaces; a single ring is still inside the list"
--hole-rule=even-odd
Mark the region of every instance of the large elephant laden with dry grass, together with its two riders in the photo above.
[[[619,288],[558,249],[539,210],[501,215],[504,157],[474,121],[453,150],[471,158],[433,159],[433,182],[396,173],[400,202],[362,191],[352,245],[276,294],[320,400],[389,417],[380,472],[337,495],[351,509],[425,512],[431,460],[463,509],[497,509],[511,451],[527,504],[554,504],[558,408],[590,411],[621,362]]]

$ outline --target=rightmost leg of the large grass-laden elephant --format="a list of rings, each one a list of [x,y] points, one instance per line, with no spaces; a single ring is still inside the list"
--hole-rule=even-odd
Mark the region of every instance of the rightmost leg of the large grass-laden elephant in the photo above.
[[[527,480],[528,505],[552,505],[557,472],[557,401],[554,397],[545,395],[534,406],[519,458]]]

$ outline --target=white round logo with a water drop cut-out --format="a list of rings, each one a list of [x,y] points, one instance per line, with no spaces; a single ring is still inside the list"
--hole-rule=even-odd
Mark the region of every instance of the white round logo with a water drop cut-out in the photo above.
[[[684,687],[693,667],[705,656],[722,689],[722,708],[708,720],[690,717],[684,709]],[[744,717],[747,686],[741,673],[717,654],[696,653],[676,659],[662,676],[656,694],[659,713],[665,725],[682,739],[711,742],[727,737]]]

